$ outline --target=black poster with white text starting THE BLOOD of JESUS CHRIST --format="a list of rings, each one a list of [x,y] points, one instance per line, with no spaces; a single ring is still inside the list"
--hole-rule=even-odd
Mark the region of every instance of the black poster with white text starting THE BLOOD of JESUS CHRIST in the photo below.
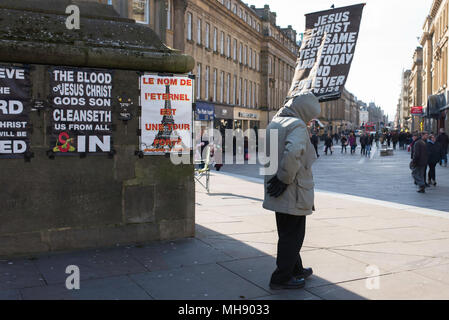
[[[107,70],[50,69],[50,146],[55,154],[111,152],[112,82]]]

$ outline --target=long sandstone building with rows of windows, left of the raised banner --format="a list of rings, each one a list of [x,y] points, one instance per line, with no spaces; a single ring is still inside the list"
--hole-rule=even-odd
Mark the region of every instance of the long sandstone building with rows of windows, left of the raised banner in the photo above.
[[[296,31],[276,25],[276,13],[268,5],[256,8],[240,0],[96,1],[147,24],[167,46],[195,59],[197,106],[214,110],[214,121],[202,121],[202,127],[264,128],[282,106],[299,46]]]

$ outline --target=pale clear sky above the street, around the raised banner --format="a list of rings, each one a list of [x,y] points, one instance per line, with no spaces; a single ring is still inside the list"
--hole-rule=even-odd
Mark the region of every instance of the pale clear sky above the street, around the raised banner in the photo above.
[[[306,13],[366,3],[359,39],[346,88],[357,99],[374,101],[394,120],[401,90],[401,73],[412,66],[432,0],[249,0],[276,12],[280,27],[304,32]]]

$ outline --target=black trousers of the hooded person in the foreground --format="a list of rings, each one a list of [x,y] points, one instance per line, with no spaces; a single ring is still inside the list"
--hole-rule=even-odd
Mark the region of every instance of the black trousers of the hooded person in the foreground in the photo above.
[[[276,212],[278,229],[277,268],[271,275],[272,283],[283,283],[302,273],[301,247],[306,233],[306,217]]]

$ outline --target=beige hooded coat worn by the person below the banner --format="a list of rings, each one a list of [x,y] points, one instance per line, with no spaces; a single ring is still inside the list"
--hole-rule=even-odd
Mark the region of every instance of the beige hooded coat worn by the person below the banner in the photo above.
[[[321,107],[312,93],[291,99],[274,116],[267,127],[267,149],[270,149],[270,130],[278,131],[277,177],[288,187],[279,197],[267,193],[268,181],[274,176],[265,176],[265,199],[267,210],[296,216],[312,214],[314,205],[314,182],[312,164],[316,153],[310,142],[307,123],[318,117]],[[265,167],[268,167],[267,164]]]

